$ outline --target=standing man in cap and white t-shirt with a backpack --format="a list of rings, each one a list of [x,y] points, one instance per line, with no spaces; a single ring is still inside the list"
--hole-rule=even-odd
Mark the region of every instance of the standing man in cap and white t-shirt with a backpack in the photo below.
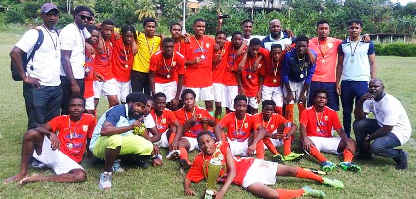
[[[59,10],[55,4],[46,3],[41,7],[43,24],[27,31],[10,52],[19,76],[23,79],[23,97],[29,118],[28,129],[36,128],[59,115],[62,101],[61,46],[55,25],[59,20]],[[38,30],[43,33],[43,42],[23,66],[38,40]],[[26,68],[26,69],[25,69]]]

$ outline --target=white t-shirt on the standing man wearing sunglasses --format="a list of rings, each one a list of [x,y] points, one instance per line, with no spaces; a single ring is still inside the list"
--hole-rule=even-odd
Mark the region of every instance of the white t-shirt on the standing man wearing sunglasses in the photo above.
[[[59,40],[61,41],[62,50],[71,50],[69,62],[72,66],[72,72],[75,79],[83,79],[85,75],[85,40],[90,38],[91,34],[87,28],[80,30],[74,23],[70,23],[61,30]],[[64,68],[61,66],[61,75],[66,76]]]

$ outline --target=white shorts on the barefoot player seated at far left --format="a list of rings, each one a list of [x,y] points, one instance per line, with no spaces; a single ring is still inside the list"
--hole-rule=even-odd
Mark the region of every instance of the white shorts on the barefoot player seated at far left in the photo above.
[[[66,174],[74,169],[84,170],[81,165],[59,151],[59,149],[52,151],[50,148],[50,140],[46,136],[44,136],[44,141],[42,143],[41,155],[38,155],[35,150],[33,151],[32,156],[44,163],[47,167],[51,168],[56,175]]]

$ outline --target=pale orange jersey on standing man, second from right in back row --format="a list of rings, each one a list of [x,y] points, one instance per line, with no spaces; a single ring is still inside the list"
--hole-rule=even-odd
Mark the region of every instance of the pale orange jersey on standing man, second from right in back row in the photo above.
[[[315,51],[318,56],[316,58],[316,68],[312,76],[312,81],[336,82],[337,49],[341,42],[342,40],[332,37],[328,37],[326,41],[319,41],[319,44],[317,37],[309,40],[309,49]],[[325,57],[323,54],[325,54]]]

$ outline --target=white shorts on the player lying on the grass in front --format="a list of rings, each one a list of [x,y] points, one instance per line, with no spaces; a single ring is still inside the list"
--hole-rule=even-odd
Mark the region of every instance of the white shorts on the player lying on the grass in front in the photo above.
[[[244,176],[242,187],[246,189],[254,183],[275,184],[278,165],[277,162],[255,159]]]

